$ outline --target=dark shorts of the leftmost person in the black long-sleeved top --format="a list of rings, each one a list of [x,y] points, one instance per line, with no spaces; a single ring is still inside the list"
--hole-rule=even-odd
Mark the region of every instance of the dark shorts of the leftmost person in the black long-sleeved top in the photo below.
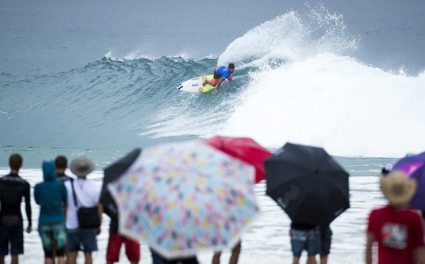
[[[2,216],[0,219],[0,255],[24,253],[24,234],[19,216]]]

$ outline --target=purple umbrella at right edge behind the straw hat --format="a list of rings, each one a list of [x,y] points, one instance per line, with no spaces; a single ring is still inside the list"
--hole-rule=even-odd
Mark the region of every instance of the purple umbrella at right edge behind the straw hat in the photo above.
[[[393,170],[401,170],[409,177],[416,179],[418,190],[410,201],[409,206],[425,211],[425,152],[400,159],[394,165]]]

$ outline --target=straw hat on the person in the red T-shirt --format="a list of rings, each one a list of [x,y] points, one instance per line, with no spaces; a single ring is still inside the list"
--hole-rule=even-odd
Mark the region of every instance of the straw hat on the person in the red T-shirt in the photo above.
[[[418,184],[399,170],[381,178],[381,189],[385,197],[394,206],[404,206],[416,194]]]

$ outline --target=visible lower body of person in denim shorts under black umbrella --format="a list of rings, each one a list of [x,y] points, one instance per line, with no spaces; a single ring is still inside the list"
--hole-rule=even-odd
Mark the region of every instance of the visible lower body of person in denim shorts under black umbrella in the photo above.
[[[320,254],[320,229],[316,225],[292,222],[291,246],[293,264],[300,261],[301,252],[307,250],[307,263],[316,264],[316,254]]]

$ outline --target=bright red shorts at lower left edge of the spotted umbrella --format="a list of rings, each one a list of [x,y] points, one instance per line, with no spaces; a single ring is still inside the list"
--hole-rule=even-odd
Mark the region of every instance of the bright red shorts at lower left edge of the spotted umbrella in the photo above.
[[[108,252],[106,253],[106,261],[118,262],[119,250],[122,242],[125,243],[125,254],[129,261],[139,262],[140,260],[140,244],[139,242],[121,236],[117,233],[109,233]]]

